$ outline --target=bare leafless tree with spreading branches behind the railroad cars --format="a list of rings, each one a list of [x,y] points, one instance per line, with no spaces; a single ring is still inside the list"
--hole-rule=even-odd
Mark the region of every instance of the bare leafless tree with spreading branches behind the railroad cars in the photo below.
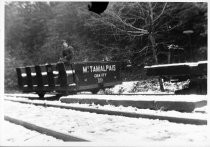
[[[110,28],[104,32],[106,35],[130,39],[147,36],[150,43],[139,49],[139,52],[151,48],[155,64],[158,64],[155,34],[159,30],[156,29],[156,23],[164,15],[166,7],[167,3],[156,2],[112,3],[106,14],[91,17],[86,25],[94,26],[93,29]],[[160,90],[164,91],[161,78],[159,83]]]

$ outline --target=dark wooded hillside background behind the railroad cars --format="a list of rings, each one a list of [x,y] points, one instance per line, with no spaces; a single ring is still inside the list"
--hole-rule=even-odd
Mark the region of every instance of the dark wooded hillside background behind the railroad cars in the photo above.
[[[207,60],[206,2],[110,2],[100,15],[88,4],[5,3],[6,90],[17,88],[16,67],[57,62],[64,40],[73,61],[129,62],[124,80],[147,78],[145,65]]]

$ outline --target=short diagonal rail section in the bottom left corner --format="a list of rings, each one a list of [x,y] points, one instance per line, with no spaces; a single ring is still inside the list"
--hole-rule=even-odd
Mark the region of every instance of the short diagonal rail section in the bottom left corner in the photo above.
[[[23,120],[20,120],[20,119],[17,119],[17,118],[13,118],[13,117],[10,117],[10,116],[7,116],[7,115],[4,116],[4,120],[9,121],[11,123],[14,123],[16,125],[21,125],[21,126],[27,128],[29,130],[37,131],[41,134],[46,134],[48,136],[52,136],[56,139],[60,139],[60,140],[63,140],[63,141],[71,141],[71,142],[87,142],[88,141],[88,140],[85,140],[83,138],[72,136],[72,135],[69,135],[69,134],[66,134],[66,133],[63,133],[63,132],[59,132],[57,130],[49,129],[49,128],[46,128],[46,127],[37,126],[37,125],[32,124],[30,122],[23,121]]]

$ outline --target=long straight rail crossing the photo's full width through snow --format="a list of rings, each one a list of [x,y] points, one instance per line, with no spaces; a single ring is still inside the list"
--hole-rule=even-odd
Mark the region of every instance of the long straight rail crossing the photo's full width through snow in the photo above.
[[[163,115],[152,115],[152,114],[144,114],[144,113],[132,113],[132,112],[122,112],[122,111],[113,111],[113,110],[102,110],[95,108],[83,108],[83,107],[74,107],[69,106],[67,104],[52,104],[47,101],[42,102],[33,102],[31,100],[18,100],[5,98],[6,101],[19,102],[24,104],[33,104],[36,106],[44,106],[44,107],[55,107],[55,108],[65,108],[83,112],[91,112],[97,114],[108,114],[108,115],[119,115],[125,117],[133,117],[133,118],[147,118],[147,119],[159,119],[159,120],[168,120],[169,122],[174,123],[183,123],[183,124],[194,124],[194,125],[207,125],[207,119],[197,119],[197,118],[186,118],[186,117],[175,117],[175,116],[163,116]]]

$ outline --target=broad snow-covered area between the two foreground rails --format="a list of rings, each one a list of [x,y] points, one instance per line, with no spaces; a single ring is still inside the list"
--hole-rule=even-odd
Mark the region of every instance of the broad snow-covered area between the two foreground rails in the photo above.
[[[4,111],[10,117],[54,128],[93,142],[207,144],[206,125],[101,115],[9,101],[4,102]],[[10,133],[14,134],[13,131]],[[26,138],[26,134],[22,135]]]

